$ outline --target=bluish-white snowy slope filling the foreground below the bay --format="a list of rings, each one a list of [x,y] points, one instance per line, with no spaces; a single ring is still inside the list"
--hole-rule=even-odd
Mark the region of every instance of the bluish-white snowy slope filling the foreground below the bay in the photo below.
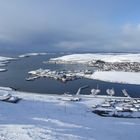
[[[9,89],[8,89],[9,90]],[[6,91],[21,97],[17,104],[0,102],[0,140],[139,140],[140,120],[100,117],[90,107],[103,99]]]

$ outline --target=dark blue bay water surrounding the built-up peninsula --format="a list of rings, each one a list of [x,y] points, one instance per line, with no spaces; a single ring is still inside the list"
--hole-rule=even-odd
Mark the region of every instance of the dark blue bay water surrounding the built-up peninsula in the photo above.
[[[58,56],[61,55],[50,54],[46,56],[32,56],[12,61],[6,67],[8,71],[0,73],[0,86],[13,87],[19,91],[37,92],[42,94],[63,94],[64,92],[75,94],[79,87],[89,85],[89,88],[82,90],[82,94],[90,94],[90,90],[96,88],[98,85],[101,89],[101,94],[106,94],[105,91],[107,88],[114,88],[116,96],[120,96],[122,95],[121,90],[125,88],[132,97],[140,97],[140,86],[138,85],[115,84],[90,79],[79,79],[67,83],[48,78],[40,78],[35,81],[25,80],[25,78],[28,77],[28,71],[36,70],[38,68],[52,70],[87,69],[87,67],[83,65],[55,65],[42,63],[51,57]]]

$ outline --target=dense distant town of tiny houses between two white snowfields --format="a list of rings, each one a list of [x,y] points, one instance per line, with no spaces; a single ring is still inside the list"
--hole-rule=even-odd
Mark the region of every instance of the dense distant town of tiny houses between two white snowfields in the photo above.
[[[140,72],[140,63],[138,62],[104,62],[101,60],[91,61],[88,63],[90,67],[97,67],[101,71],[125,71]]]

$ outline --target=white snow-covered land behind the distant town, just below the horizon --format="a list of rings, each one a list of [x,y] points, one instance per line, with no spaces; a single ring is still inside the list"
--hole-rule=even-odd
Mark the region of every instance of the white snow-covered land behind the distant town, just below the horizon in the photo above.
[[[102,60],[105,62],[140,62],[140,54],[87,53],[71,54],[50,59],[50,61],[63,61],[64,63],[87,63],[92,60]]]

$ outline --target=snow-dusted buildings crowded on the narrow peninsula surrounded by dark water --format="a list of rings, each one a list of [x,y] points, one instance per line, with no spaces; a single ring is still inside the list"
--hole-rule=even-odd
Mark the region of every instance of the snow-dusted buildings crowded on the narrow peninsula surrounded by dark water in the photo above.
[[[77,74],[78,73],[78,74]],[[53,78],[55,80],[60,80],[62,82],[72,81],[82,78],[82,74],[91,74],[90,70],[85,71],[52,71],[50,69],[37,69],[35,71],[28,72],[29,77],[26,78],[27,81],[32,81],[40,77]]]

